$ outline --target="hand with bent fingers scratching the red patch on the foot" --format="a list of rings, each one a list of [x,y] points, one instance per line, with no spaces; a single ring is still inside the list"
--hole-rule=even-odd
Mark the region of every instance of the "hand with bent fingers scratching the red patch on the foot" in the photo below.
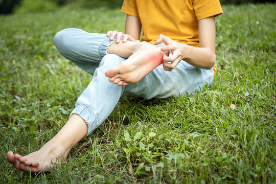
[[[163,68],[166,71],[172,71],[173,68],[184,58],[183,51],[187,44],[178,43],[171,38],[160,34],[156,40],[156,43],[164,42],[166,46],[161,48],[161,51],[171,51],[171,56],[163,56]]]

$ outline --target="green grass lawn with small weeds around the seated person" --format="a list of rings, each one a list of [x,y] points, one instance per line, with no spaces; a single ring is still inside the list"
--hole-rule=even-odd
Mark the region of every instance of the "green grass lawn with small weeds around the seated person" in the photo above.
[[[67,8],[0,16],[0,181],[274,183],[276,5],[223,10],[210,88],[187,97],[121,99],[48,174],[17,171],[5,159],[9,150],[25,155],[49,141],[91,80],[58,54],[53,37],[68,27],[123,31],[125,15]]]

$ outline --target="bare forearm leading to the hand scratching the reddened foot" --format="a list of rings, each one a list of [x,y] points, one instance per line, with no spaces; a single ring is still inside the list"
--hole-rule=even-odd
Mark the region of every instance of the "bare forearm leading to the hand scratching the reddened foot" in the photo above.
[[[215,53],[208,47],[197,48],[187,44],[181,44],[183,58],[182,60],[189,64],[209,70],[216,62]]]

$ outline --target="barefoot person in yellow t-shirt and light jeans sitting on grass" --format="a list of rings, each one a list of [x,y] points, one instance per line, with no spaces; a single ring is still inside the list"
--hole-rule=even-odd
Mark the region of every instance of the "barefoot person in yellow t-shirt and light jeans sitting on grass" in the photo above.
[[[222,13],[219,0],[125,0],[122,11],[127,14],[125,34],[80,29],[56,34],[54,44],[60,54],[93,79],[52,140],[26,156],[7,153],[15,168],[41,172],[60,163],[109,116],[122,95],[166,98],[191,94],[212,83],[215,16]]]

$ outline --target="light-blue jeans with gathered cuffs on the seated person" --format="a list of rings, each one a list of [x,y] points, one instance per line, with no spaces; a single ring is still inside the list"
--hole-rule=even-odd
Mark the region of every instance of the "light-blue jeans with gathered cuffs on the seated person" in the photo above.
[[[116,54],[107,54],[113,41],[106,34],[87,33],[69,28],[58,32],[54,44],[59,53],[72,60],[93,79],[76,102],[72,114],[78,114],[88,126],[88,133],[97,128],[112,112],[120,97],[167,98],[173,95],[192,94],[210,85],[214,78],[213,68],[204,70],[181,61],[171,71],[159,65],[135,84],[118,86],[108,81],[104,73],[124,61]],[[164,43],[162,43],[164,44]]]

